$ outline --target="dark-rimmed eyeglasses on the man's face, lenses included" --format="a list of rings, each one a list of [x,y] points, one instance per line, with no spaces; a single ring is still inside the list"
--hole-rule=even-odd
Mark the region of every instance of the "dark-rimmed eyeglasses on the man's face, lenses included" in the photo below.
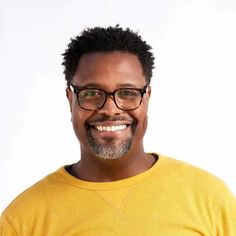
[[[119,109],[124,111],[135,110],[141,105],[147,87],[148,84],[142,89],[120,88],[113,92],[107,92],[100,88],[78,88],[73,84],[69,86],[76,94],[79,106],[89,111],[103,108],[108,96],[112,96]]]

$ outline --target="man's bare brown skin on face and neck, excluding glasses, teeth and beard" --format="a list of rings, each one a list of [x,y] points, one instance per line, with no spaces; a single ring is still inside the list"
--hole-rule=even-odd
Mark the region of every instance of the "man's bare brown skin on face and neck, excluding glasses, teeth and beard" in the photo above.
[[[124,52],[99,52],[87,53],[80,58],[73,84],[78,87],[97,87],[112,92],[122,87],[143,88],[146,81],[136,55]],[[155,159],[146,154],[143,148],[150,87],[147,88],[140,107],[133,111],[120,110],[112,97],[107,98],[102,109],[87,111],[79,106],[76,95],[70,89],[66,92],[73,128],[81,150],[81,159],[71,170],[73,176],[93,182],[115,181],[142,173],[154,164]],[[98,121],[100,118],[102,121]],[[116,118],[118,120],[114,121]],[[118,132],[100,132],[94,128],[96,125],[120,124],[128,126]],[[119,158],[101,158],[94,153],[88,141],[88,129],[96,142],[104,147],[107,147],[109,140],[112,140],[116,148],[120,147],[125,139],[132,138],[130,149]]]

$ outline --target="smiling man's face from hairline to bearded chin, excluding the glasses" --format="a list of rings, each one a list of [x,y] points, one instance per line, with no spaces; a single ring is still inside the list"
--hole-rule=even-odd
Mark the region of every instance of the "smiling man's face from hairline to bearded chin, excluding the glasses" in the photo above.
[[[72,83],[79,88],[100,88],[108,92],[127,87],[140,89],[146,85],[138,58],[121,52],[84,54]],[[69,89],[67,96],[82,155],[119,159],[130,150],[142,148],[150,88],[140,107],[132,111],[119,109],[112,96],[96,111],[82,109]]]

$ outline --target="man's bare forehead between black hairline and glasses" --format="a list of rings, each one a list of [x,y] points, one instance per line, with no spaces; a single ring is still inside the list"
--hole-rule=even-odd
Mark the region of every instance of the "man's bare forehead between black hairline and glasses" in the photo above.
[[[98,84],[117,87],[130,84],[145,85],[142,65],[138,57],[126,52],[98,52],[84,54],[78,63],[73,83],[77,86]]]

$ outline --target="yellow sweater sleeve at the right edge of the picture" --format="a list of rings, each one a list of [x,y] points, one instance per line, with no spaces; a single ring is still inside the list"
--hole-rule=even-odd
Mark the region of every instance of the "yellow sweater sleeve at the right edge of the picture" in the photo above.
[[[217,215],[217,236],[236,235],[236,197],[227,189]]]

